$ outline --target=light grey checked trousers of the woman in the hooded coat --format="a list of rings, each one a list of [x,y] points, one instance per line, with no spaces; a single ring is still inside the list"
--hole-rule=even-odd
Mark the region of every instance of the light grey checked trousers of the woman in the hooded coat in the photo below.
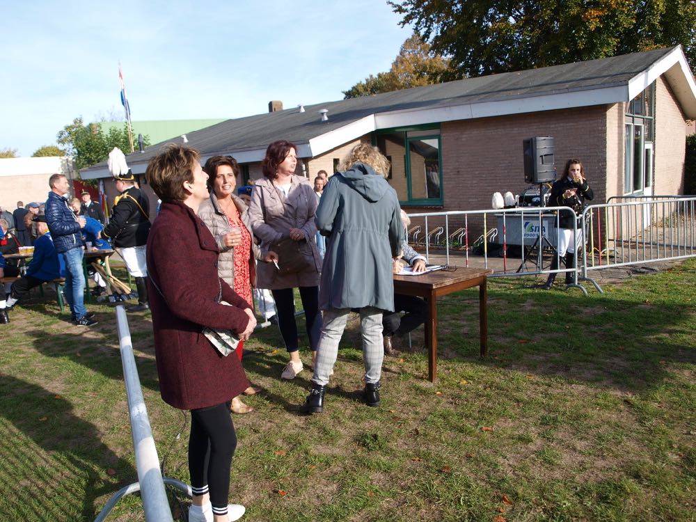
[[[324,310],[324,326],[317,347],[317,362],[312,382],[319,386],[329,383],[329,376],[338,357],[340,343],[350,308]],[[360,309],[360,329],[363,337],[363,364],[365,383],[377,383],[382,374],[384,346],[382,338],[382,310],[371,306]]]

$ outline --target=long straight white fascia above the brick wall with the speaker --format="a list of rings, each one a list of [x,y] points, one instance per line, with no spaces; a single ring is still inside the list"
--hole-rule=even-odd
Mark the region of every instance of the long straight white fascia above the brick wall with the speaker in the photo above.
[[[406,125],[490,118],[491,116],[508,116],[510,114],[553,111],[556,109],[573,109],[574,107],[614,104],[625,101],[628,101],[626,86],[619,85],[543,96],[519,97],[514,100],[500,100],[497,102],[394,111],[377,114],[375,120],[377,129],[389,129]]]

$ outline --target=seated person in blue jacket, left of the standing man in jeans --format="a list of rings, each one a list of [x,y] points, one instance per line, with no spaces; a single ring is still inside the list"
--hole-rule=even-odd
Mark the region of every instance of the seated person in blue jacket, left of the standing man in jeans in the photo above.
[[[26,267],[26,274],[12,284],[10,296],[8,296],[6,303],[8,309],[15,306],[15,303],[29,293],[33,287],[65,277],[65,266],[56,253],[51,232],[48,231],[46,216],[38,214],[34,216],[32,221],[38,232],[38,239],[34,243],[34,254],[29,262],[29,267]]]

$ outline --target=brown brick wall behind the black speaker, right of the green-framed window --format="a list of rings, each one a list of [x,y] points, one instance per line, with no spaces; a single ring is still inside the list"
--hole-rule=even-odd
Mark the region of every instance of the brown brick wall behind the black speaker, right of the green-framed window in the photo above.
[[[444,210],[491,207],[493,192],[519,194],[524,180],[522,141],[553,136],[555,167],[577,157],[596,200],[606,197],[607,118],[611,106],[443,123]]]

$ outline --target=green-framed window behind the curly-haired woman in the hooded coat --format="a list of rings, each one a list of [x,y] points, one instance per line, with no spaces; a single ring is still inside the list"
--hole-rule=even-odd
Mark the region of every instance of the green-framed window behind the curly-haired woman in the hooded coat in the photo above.
[[[438,126],[378,131],[374,144],[391,161],[388,181],[402,205],[442,205]]]

